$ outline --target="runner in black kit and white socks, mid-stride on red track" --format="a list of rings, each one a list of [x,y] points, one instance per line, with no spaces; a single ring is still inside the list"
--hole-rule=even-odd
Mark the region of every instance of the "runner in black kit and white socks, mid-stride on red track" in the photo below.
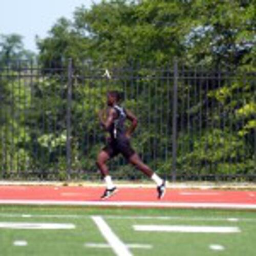
[[[131,164],[135,165],[147,177],[151,178],[157,184],[158,199],[165,194],[165,181],[161,179],[153,170],[144,164],[138,154],[133,150],[130,144],[130,138],[137,126],[136,116],[129,110],[125,110],[119,105],[120,94],[117,91],[110,91],[107,94],[107,104],[109,111],[106,119],[103,118],[102,111],[99,112],[101,126],[110,133],[110,138],[106,146],[100,151],[97,157],[97,166],[106,183],[106,189],[101,199],[107,199],[117,192],[117,187],[113,184],[106,166],[106,161],[121,153]],[[124,127],[125,120],[131,121],[131,126],[127,131]]]

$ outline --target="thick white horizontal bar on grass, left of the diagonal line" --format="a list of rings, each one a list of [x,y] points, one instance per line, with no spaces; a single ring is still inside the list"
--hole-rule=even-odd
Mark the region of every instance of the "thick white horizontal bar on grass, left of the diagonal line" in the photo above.
[[[74,229],[69,223],[26,223],[26,222],[0,222],[0,228],[10,229]]]

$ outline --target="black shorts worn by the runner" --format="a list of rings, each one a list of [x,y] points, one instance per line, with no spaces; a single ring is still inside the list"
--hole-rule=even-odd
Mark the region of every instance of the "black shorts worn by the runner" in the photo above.
[[[103,148],[103,151],[108,153],[110,158],[117,156],[121,153],[127,160],[135,154],[129,139],[121,138],[115,139],[108,142],[108,144]]]

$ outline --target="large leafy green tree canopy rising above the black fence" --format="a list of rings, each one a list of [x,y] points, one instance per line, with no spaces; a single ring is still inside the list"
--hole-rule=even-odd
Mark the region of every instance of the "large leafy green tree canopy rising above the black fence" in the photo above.
[[[38,43],[44,60],[72,57],[255,66],[255,0],[102,1],[60,19]]]

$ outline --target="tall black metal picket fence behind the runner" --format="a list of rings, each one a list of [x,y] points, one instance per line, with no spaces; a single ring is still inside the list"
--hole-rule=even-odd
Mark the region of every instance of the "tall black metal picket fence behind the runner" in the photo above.
[[[169,180],[254,180],[256,73],[204,70],[174,61],[140,65],[0,67],[0,178],[99,179],[105,142],[97,112],[108,90],[139,119],[132,139],[143,161]],[[117,179],[144,179],[121,157]]]

